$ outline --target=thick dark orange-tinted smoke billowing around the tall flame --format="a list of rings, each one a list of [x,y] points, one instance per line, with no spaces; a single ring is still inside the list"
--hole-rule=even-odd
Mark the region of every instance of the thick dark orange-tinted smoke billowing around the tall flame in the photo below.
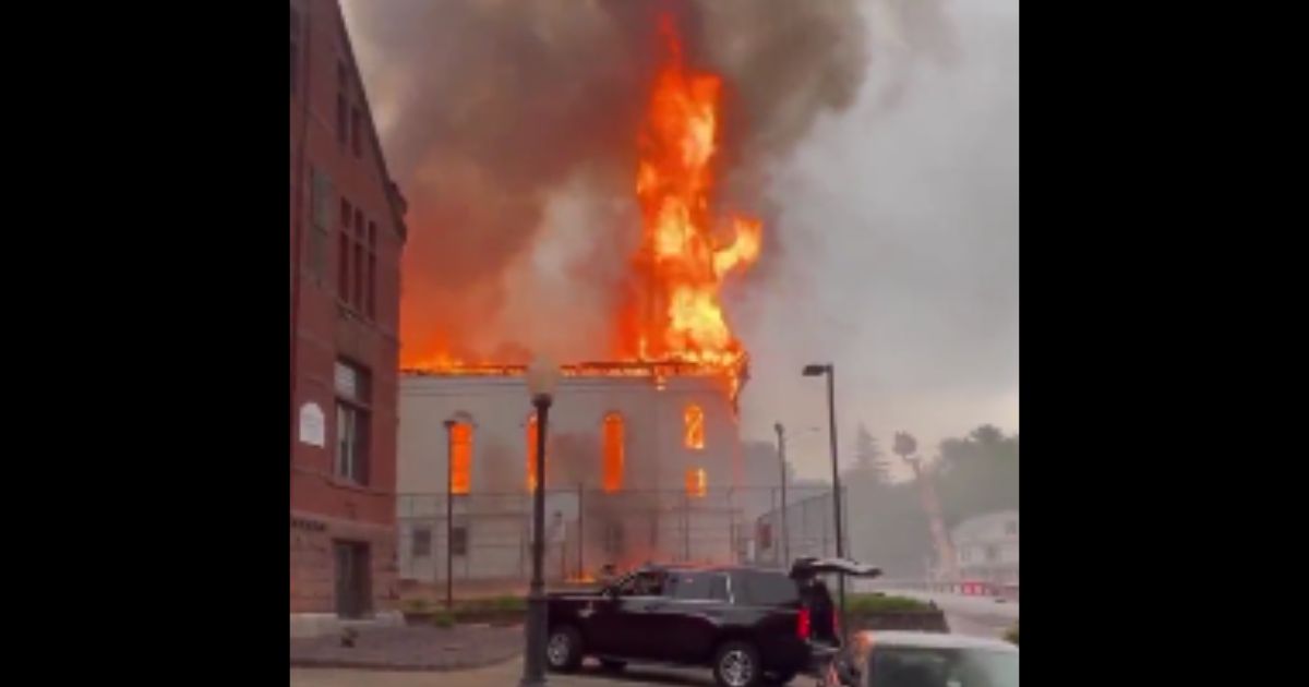
[[[766,272],[776,258],[768,170],[823,113],[853,102],[869,65],[865,13],[899,4],[347,1],[411,208],[404,357],[437,342],[482,355],[513,343],[607,348],[596,327],[610,322],[639,239],[634,154],[661,12],[690,64],[725,77],[720,200],[766,221]]]

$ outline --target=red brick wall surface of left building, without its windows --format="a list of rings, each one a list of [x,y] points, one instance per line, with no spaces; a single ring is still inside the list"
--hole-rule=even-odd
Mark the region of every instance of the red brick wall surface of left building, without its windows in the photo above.
[[[336,0],[292,0],[300,30],[293,39],[301,62],[291,96],[291,242],[292,242],[292,416],[308,402],[322,408],[326,446],[292,444],[291,508],[334,522],[357,523],[355,534],[372,546],[374,568],[394,565],[397,368],[399,356],[399,264],[404,226],[385,173],[372,114],[359,81]],[[348,73],[348,103],[364,114],[363,154],[336,139],[338,65]],[[347,120],[350,118],[347,116]],[[312,263],[313,170],[331,179],[329,232],[322,260]],[[338,298],[339,207],[344,198],[377,225],[376,281],[372,318]],[[298,292],[297,292],[298,285]],[[334,468],[334,364],[344,357],[372,374],[369,480],[357,485],[338,479]],[[293,431],[298,428],[295,427]],[[368,527],[372,525],[373,527]],[[342,525],[350,527],[348,525]],[[334,526],[335,527],[335,526]],[[360,534],[363,533],[363,534]],[[292,611],[331,610],[331,540],[329,533],[292,530]],[[374,593],[386,578],[374,577]],[[382,589],[385,591],[385,589]],[[381,607],[374,598],[374,607]]]

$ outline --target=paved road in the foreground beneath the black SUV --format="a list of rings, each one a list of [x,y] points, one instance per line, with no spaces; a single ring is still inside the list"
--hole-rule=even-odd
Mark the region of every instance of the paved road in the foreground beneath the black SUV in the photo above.
[[[376,670],[292,669],[291,687],[504,687],[518,683],[522,660],[457,673],[384,673]],[[585,666],[573,675],[548,675],[551,687],[713,687],[708,670],[631,667],[620,674]],[[796,678],[792,686],[812,686],[813,678]]]

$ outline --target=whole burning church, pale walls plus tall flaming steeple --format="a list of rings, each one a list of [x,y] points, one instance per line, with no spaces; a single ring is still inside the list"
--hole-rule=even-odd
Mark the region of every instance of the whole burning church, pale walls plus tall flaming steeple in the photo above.
[[[749,356],[720,292],[758,259],[762,222],[712,198],[723,79],[686,64],[668,17],[658,35],[664,58],[634,141],[640,241],[610,313],[614,344],[601,361],[564,357],[550,411],[546,573],[556,580],[609,564],[738,560],[750,535],[737,491]],[[406,347],[401,577],[525,581],[538,431],[530,355]]]

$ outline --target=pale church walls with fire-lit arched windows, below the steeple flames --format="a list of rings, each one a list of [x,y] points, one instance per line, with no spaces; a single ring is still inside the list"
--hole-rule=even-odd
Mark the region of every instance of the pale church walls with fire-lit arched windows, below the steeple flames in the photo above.
[[[403,578],[526,578],[538,425],[522,372],[402,376]],[[547,425],[547,576],[738,557],[746,530],[732,495],[741,470],[732,374],[740,372],[656,362],[563,368]]]

